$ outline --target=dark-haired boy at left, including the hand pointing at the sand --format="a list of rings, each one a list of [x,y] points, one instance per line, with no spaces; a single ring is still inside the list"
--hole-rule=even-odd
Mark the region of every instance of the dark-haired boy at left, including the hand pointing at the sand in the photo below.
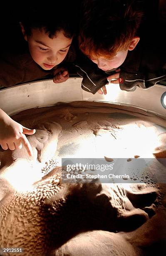
[[[67,64],[75,57],[69,49],[76,30],[72,1],[63,1],[63,8],[60,3],[24,8],[26,13],[22,12],[20,26],[25,40],[20,36],[21,30],[6,30],[5,39],[0,43],[3,49],[0,87],[40,79],[48,74],[53,74],[54,82],[66,81],[69,77]],[[23,127],[0,109],[0,145],[4,150],[20,149],[23,144],[31,156],[32,148],[25,134],[34,133],[34,129]]]

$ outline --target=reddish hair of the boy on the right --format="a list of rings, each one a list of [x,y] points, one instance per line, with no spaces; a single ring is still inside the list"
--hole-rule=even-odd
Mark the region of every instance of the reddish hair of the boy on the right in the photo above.
[[[87,56],[112,58],[139,33],[144,12],[139,0],[84,0],[79,47]]]

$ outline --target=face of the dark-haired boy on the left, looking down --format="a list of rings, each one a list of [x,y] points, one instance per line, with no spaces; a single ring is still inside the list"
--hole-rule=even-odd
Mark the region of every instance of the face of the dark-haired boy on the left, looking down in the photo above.
[[[44,30],[33,28],[30,36],[24,35],[28,42],[32,59],[42,69],[50,70],[61,63],[67,55],[72,38],[64,36],[63,31],[57,32],[57,36],[51,39]]]

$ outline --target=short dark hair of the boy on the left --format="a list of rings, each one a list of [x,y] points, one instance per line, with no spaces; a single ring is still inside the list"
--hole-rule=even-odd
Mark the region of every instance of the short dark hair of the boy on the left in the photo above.
[[[31,34],[32,28],[45,31],[50,38],[55,38],[58,31],[63,30],[64,36],[72,38],[77,30],[77,2],[74,0],[46,1],[37,3],[34,1],[29,6],[24,6],[20,22],[25,28],[27,35]]]

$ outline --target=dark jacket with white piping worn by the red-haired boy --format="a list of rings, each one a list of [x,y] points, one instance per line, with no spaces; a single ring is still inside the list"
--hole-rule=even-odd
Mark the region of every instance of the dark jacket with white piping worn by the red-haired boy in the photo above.
[[[107,77],[115,74],[115,70],[104,72],[86,56],[77,60],[77,73],[83,77],[82,89],[95,94],[107,84]],[[124,63],[119,67],[119,84],[121,90],[134,91],[136,86],[148,89],[159,81],[166,79],[166,49],[142,44],[133,51],[128,51]]]

